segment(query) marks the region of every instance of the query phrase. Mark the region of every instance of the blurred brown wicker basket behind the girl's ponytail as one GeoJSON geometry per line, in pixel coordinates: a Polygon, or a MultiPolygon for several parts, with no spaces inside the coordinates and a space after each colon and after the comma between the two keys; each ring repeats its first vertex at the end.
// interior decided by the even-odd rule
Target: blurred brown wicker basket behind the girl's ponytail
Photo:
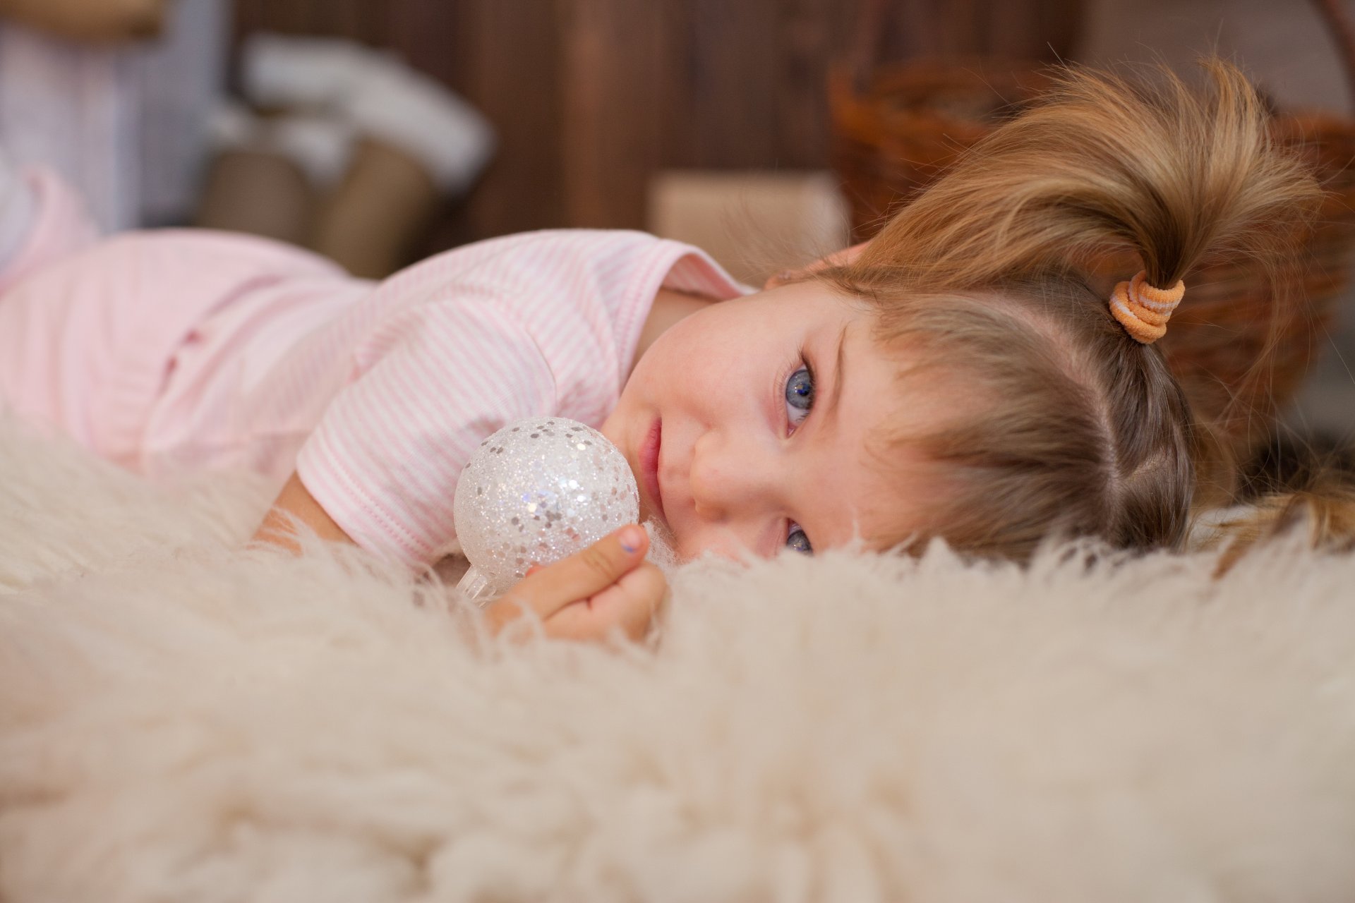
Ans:
{"type": "MultiPolygon", "coordinates": [[[[843,69],[831,83],[833,165],[856,241],[1019,112],[1049,76],[1035,64],[919,61],[875,66],[860,81],[843,69]]],[[[1274,130],[1331,191],[1302,259],[1285,267],[1282,292],[1270,291],[1255,263],[1206,261],[1187,276],[1190,290],[1161,343],[1196,414],[1221,426],[1238,455],[1270,435],[1325,344],[1355,245],[1355,122],[1278,115],[1274,130]],[[1285,309],[1276,294],[1290,299],[1285,309]]]]}

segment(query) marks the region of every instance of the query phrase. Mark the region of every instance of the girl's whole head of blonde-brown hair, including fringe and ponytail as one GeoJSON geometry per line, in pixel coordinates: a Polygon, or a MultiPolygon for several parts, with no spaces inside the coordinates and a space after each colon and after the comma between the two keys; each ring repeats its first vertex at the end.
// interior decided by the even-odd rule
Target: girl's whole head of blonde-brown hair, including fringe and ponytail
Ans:
{"type": "Polygon", "coordinates": [[[978,399],[893,437],[947,487],[924,535],[1012,558],[1051,532],[1176,547],[1196,467],[1214,482],[1226,471],[1161,352],[1111,317],[1103,279],[1107,261],[1127,264],[1117,279],[1184,278],[1188,303],[1206,255],[1274,272],[1316,211],[1321,191],[1272,144],[1256,91],[1226,62],[1203,66],[1203,92],[1167,72],[1066,70],[855,260],[816,273],[871,305],[878,340],[911,361],[905,382],[944,374],[978,399]]]}

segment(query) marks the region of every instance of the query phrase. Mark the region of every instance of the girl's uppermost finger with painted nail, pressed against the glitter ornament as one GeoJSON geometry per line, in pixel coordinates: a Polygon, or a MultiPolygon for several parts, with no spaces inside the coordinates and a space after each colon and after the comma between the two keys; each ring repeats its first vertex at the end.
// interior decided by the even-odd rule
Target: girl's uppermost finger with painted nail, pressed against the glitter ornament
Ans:
{"type": "Polygon", "coordinates": [[[500,627],[530,611],[542,621],[570,602],[588,600],[612,586],[645,560],[649,535],[629,524],[554,565],[533,571],[507,596],[485,609],[491,627],[500,627]]]}

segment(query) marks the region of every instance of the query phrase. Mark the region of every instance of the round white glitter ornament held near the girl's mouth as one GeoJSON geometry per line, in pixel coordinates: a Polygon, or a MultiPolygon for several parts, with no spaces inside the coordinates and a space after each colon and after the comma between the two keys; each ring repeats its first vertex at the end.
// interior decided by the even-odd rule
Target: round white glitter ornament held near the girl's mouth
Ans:
{"type": "Polygon", "coordinates": [[[470,562],[458,588],[484,604],[527,575],[640,519],[625,455],[565,417],[508,424],[470,458],[453,502],[470,562]]]}

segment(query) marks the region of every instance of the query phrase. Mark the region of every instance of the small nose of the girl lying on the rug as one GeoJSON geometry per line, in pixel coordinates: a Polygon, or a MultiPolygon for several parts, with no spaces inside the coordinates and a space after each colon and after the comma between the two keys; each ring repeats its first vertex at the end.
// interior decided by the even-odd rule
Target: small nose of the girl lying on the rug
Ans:
{"type": "Polygon", "coordinates": [[[775,449],[747,432],[710,431],[692,448],[690,489],[696,514],[709,523],[756,520],[779,487],[775,449]]]}

